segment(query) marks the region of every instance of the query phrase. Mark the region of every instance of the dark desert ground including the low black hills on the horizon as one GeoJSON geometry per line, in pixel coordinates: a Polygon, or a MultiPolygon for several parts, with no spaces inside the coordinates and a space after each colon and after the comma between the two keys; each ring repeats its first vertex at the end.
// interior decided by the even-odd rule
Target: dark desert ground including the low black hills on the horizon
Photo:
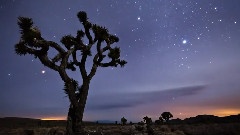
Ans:
{"type": "MultiPolygon", "coordinates": [[[[240,135],[240,115],[218,119],[204,115],[151,125],[154,135],[240,135]]],[[[0,135],[64,135],[66,121],[0,118],[0,135]]],[[[85,123],[88,135],[148,135],[146,125],[85,123]]]]}

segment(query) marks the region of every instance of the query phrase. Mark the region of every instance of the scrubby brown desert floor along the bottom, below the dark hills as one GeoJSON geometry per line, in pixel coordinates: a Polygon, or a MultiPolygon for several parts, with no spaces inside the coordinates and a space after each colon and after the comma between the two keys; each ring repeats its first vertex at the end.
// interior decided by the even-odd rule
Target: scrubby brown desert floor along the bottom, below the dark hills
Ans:
{"type": "MultiPolygon", "coordinates": [[[[152,125],[154,135],[240,135],[240,123],[152,125]]],[[[88,135],[148,135],[139,125],[85,126],[88,135]]],[[[0,135],[64,135],[65,127],[1,128],[0,135]]]]}

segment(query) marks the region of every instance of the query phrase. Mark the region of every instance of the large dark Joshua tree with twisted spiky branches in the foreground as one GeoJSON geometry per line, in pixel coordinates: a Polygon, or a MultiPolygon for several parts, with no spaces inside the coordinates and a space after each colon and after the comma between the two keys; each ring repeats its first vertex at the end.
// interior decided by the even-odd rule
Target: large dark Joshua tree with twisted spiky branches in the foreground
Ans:
{"type": "Polygon", "coordinates": [[[59,73],[64,82],[65,93],[70,101],[68,113],[70,128],[67,128],[67,134],[75,135],[83,132],[82,119],[89,85],[97,68],[117,67],[118,65],[123,67],[127,63],[120,60],[120,48],[112,46],[113,43],[119,41],[117,36],[109,34],[105,27],[90,23],[87,14],[83,11],[79,12],[77,17],[84,30],[78,30],[75,37],[72,35],[63,36],[61,39],[63,45],[45,40],[41,36],[40,30],[33,26],[31,18],[19,17],[18,25],[21,38],[19,43],[15,45],[16,54],[33,55],[44,66],[59,73]],[[84,37],[86,37],[87,43],[84,43],[84,37]],[[92,51],[94,48],[96,50],[92,51]],[[51,57],[50,50],[55,50],[57,53],[51,57]],[[92,66],[87,70],[86,61],[89,56],[93,56],[90,57],[92,58],[92,66]],[[67,70],[81,73],[81,85],[69,76],[67,70]]]}

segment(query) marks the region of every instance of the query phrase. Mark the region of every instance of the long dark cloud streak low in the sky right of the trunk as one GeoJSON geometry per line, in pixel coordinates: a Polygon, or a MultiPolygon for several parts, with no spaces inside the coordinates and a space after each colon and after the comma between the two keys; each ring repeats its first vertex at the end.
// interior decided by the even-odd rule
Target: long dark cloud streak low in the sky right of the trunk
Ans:
{"type": "MultiPolygon", "coordinates": [[[[136,93],[121,93],[118,95],[105,95],[101,99],[95,99],[94,102],[90,102],[89,109],[93,110],[108,110],[117,108],[134,107],[141,104],[147,104],[152,102],[166,102],[169,99],[196,95],[203,91],[206,85],[196,85],[179,87],[173,89],[166,89],[161,91],[151,92],[136,92],[136,93]]],[[[102,96],[100,96],[102,97],[102,96]]]]}

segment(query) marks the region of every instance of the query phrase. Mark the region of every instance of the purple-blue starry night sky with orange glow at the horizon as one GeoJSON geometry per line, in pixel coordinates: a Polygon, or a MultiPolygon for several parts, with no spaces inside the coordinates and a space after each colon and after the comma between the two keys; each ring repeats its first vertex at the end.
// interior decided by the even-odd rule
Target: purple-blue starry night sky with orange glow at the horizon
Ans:
{"type": "Polygon", "coordinates": [[[239,114],[239,7],[239,0],[1,0],[0,117],[66,118],[69,101],[58,73],[14,52],[17,17],[32,18],[45,39],[60,44],[82,29],[79,11],[120,38],[114,45],[128,61],[98,68],[84,120],[239,114]]]}

